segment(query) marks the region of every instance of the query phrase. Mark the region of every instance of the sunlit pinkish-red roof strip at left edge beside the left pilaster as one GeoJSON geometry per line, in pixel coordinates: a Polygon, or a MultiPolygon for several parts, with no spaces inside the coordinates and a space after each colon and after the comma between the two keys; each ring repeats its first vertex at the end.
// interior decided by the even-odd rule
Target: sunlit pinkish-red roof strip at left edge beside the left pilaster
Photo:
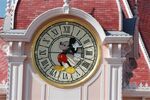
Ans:
{"type": "Polygon", "coordinates": [[[6,54],[2,51],[2,46],[5,44],[5,41],[0,39],[0,83],[2,81],[7,81],[8,74],[8,63],[6,54]]]}

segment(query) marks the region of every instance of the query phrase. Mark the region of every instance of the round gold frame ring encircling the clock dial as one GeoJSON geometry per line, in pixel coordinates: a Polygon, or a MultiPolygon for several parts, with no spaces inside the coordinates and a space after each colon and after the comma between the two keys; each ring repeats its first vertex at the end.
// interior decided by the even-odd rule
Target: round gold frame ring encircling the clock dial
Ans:
{"type": "Polygon", "coordinates": [[[102,49],[101,49],[101,40],[100,40],[100,37],[98,35],[98,32],[95,30],[95,28],[89,22],[87,22],[86,20],[79,18],[77,16],[69,15],[69,14],[63,14],[63,15],[58,15],[58,16],[55,16],[53,18],[50,18],[49,20],[43,22],[43,24],[41,24],[37,28],[37,30],[35,31],[35,33],[33,35],[31,42],[32,42],[31,59],[32,59],[32,68],[33,68],[34,72],[37,73],[40,76],[40,78],[42,78],[45,82],[47,82],[48,84],[53,85],[55,87],[67,89],[67,88],[75,88],[75,87],[81,86],[83,83],[85,83],[89,79],[91,79],[92,76],[94,74],[96,74],[96,72],[98,71],[98,69],[100,67],[101,60],[102,60],[102,49]],[[94,37],[94,39],[96,41],[98,56],[97,56],[97,60],[96,60],[94,67],[87,76],[85,76],[83,79],[81,79],[75,83],[60,84],[60,83],[56,83],[54,81],[48,80],[37,68],[35,58],[34,58],[34,49],[35,49],[36,41],[37,41],[38,37],[40,36],[40,34],[47,27],[49,27],[55,23],[61,22],[61,21],[71,21],[71,22],[76,22],[76,23],[81,24],[82,26],[84,26],[85,28],[87,28],[90,31],[91,35],[94,37]]]}

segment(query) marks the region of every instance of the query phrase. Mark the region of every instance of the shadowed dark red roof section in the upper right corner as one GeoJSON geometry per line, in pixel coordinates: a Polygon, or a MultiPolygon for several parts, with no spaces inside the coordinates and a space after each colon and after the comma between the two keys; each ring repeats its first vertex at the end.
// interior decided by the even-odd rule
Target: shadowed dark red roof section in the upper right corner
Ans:
{"type": "Polygon", "coordinates": [[[138,0],[139,31],[150,55],[150,0],[138,0]]]}

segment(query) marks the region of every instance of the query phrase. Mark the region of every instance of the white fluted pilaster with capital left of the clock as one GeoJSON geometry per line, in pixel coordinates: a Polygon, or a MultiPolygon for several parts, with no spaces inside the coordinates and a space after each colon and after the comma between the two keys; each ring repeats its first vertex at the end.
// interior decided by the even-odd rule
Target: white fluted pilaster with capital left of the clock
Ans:
{"type": "Polygon", "coordinates": [[[8,56],[9,89],[8,100],[22,100],[23,64],[26,58],[23,55],[22,42],[10,42],[8,56]]]}

